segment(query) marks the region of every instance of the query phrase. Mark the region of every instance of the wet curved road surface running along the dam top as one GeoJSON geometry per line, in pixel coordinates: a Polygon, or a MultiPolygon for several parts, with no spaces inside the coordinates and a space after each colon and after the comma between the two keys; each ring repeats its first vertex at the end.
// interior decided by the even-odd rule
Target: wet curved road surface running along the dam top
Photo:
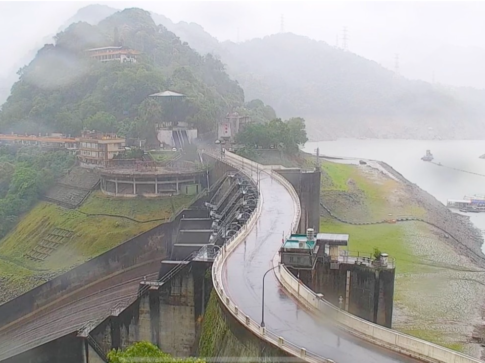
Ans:
{"type": "MultiPolygon", "coordinates": [[[[241,165],[227,153],[226,157],[241,165]]],[[[271,268],[271,261],[281,247],[283,232],[288,232],[295,216],[289,192],[265,172],[260,175],[261,216],[244,243],[227,258],[222,272],[226,293],[241,311],[256,321],[261,320],[262,277],[271,268]]],[[[257,178],[256,173],[253,178],[257,178]]],[[[273,273],[265,278],[264,298],[266,329],[309,352],[336,363],[416,362],[325,325],[286,295],[273,273]]]]}

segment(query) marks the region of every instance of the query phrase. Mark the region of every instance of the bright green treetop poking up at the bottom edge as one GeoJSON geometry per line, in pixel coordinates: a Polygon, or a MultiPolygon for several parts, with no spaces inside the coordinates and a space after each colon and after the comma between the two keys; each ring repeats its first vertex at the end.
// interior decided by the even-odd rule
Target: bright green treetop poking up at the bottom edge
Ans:
{"type": "Polygon", "coordinates": [[[110,363],[135,363],[142,361],[140,360],[142,358],[150,358],[149,361],[164,363],[205,363],[203,359],[198,358],[174,358],[148,341],[136,342],[124,350],[113,349],[108,353],[110,363]]]}

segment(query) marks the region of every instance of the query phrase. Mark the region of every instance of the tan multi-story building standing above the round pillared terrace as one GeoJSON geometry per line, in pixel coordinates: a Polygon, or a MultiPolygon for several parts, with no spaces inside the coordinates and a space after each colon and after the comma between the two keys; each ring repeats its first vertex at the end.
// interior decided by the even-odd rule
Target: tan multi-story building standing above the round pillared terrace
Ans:
{"type": "Polygon", "coordinates": [[[76,138],[79,145],[77,155],[84,166],[106,165],[120,152],[125,151],[126,141],[115,134],[84,132],[76,138]]]}

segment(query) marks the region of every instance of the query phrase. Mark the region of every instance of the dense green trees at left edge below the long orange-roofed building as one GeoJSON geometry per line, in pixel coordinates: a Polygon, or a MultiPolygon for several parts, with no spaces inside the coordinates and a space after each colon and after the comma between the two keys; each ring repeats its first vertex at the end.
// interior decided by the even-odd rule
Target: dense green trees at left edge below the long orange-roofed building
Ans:
{"type": "Polygon", "coordinates": [[[66,151],[0,147],[0,238],[73,162],[66,151]]]}

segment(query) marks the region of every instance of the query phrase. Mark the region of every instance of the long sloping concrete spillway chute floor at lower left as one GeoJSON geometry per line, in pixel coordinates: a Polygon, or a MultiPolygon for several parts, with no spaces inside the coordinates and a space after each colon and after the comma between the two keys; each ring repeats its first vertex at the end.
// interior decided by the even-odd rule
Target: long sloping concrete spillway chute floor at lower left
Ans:
{"type": "Polygon", "coordinates": [[[32,316],[0,327],[0,361],[76,332],[89,320],[107,316],[117,302],[138,291],[143,276],[157,277],[160,258],[57,300],[32,316]]]}

